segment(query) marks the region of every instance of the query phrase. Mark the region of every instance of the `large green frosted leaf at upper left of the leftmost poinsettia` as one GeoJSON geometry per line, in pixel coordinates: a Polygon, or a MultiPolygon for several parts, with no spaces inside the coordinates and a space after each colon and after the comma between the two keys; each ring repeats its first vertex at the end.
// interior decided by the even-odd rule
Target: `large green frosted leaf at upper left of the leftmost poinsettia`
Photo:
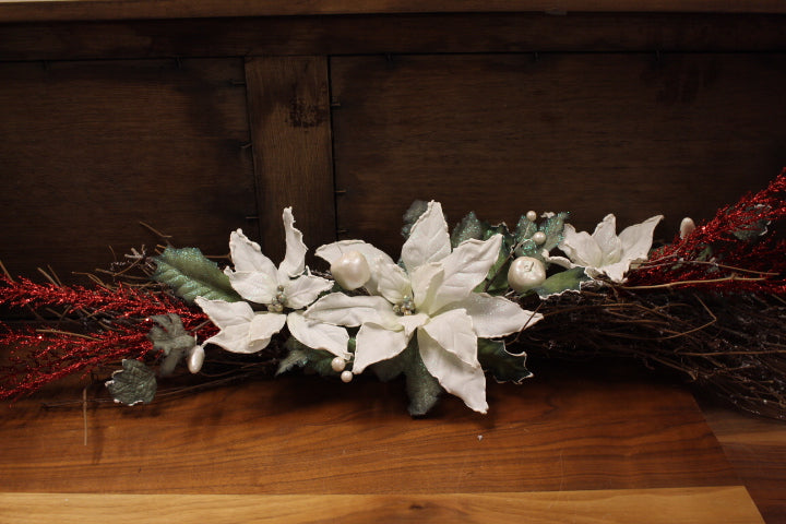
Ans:
{"type": "Polygon", "coordinates": [[[192,303],[196,297],[227,302],[242,300],[218,264],[207,260],[196,248],[168,247],[154,260],[157,269],[153,279],[169,286],[187,302],[192,303]]]}

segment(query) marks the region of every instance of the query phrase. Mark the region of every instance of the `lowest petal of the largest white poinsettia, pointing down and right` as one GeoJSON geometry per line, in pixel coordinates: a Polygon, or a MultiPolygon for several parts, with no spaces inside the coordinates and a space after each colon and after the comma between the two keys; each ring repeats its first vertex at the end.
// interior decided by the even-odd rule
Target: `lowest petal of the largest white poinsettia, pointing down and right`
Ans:
{"type": "Polygon", "coordinates": [[[449,393],[464,401],[467,407],[486,413],[486,374],[483,368],[473,367],[462,361],[431,338],[424,330],[418,330],[418,347],[420,358],[429,373],[449,393]]]}

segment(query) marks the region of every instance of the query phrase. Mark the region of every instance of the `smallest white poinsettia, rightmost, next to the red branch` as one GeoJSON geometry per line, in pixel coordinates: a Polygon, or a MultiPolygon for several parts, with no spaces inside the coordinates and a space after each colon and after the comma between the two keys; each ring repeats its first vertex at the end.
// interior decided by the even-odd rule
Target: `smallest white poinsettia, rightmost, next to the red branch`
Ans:
{"type": "Polygon", "coordinates": [[[619,236],[617,219],[612,214],[606,215],[592,235],[576,233],[573,226],[565,224],[559,248],[568,259],[549,257],[548,261],[564,267],[584,267],[585,273],[593,278],[605,275],[611,282],[622,283],[631,264],[647,260],[655,226],[662,219],[663,215],[650,217],[641,224],[624,228],[619,236]]]}

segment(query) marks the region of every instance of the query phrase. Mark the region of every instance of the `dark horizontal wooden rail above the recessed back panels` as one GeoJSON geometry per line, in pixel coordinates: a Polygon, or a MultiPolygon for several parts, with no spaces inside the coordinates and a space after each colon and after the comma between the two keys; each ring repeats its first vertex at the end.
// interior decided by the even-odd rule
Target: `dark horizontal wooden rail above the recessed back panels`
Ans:
{"type": "Polygon", "coordinates": [[[0,60],[786,50],[786,15],[397,14],[0,25],[0,60]]]}

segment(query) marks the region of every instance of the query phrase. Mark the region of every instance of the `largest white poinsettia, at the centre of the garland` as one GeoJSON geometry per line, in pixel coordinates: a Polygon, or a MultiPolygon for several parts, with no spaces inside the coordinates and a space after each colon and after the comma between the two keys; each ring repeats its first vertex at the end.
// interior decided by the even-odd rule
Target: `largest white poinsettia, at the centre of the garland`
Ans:
{"type": "Polygon", "coordinates": [[[413,336],[426,368],[449,393],[486,413],[486,377],[477,357],[478,337],[505,336],[543,317],[503,297],[474,293],[499,255],[502,237],[467,240],[451,250],[448,224],[438,202],[412,228],[402,249],[404,267],[379,249],[357,240],[317,250],[327,262],[362,253],[371,267],[370,296],[326,295],[306,318],[350,327],[356,338],[353,373],[395,357],[413,336]]]}

